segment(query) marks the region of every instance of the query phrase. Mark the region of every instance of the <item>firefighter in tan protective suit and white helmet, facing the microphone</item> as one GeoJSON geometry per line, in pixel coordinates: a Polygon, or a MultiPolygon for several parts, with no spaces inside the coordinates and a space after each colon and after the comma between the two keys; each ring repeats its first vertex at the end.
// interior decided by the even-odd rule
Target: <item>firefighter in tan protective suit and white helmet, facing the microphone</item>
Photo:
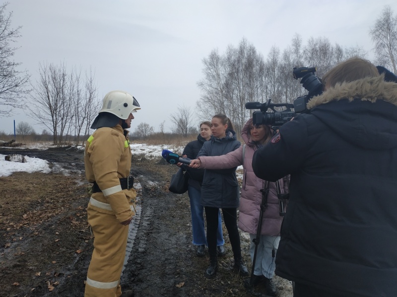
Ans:
{"type": "Polygon", "coordinates": [[[129,176],[131,148],[125,129],[131,127],[132,112],[137,109],[138,102],[126,92],[106,94],[91,126],[97,130],[85,145],[85,174],[93,183],[87,215],[94,234],[85,297],[133,296],[131,290],[122,293],[120,275],[136,197],[129,176]]]}

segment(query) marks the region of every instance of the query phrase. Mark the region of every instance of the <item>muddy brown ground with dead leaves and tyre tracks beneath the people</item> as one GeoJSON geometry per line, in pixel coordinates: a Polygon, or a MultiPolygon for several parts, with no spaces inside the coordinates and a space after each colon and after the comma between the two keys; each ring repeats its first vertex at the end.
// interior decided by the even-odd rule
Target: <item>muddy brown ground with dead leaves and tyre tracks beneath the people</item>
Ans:
{"type": "MultiPolygon", "coordinates": [[[[93,249],[83,152],[0,148],[0,154],[10,153],[47,159],[53,173],[0,177],[0,297],[83,296],[93,249]]],[[[130,226],[123,289],[132,289],[136,297],[253,296],[243,285],[247,277],[233,269],[226,230],[227,253],[219,258],[218,273],[211,280],[204,277],[209,258],[197,257],[192,245],[189,198],[168,192],[176,170],[160,157],[133,157],[139,211],[130,226]]],[[[251,272],[249,245],[242,236],[251,272]]],[[[277,276],[273,280],[279,297],[292,297],[290,282],[277,276]]],[[[265,288],[255,292],[265,294],[265,288]]]]}

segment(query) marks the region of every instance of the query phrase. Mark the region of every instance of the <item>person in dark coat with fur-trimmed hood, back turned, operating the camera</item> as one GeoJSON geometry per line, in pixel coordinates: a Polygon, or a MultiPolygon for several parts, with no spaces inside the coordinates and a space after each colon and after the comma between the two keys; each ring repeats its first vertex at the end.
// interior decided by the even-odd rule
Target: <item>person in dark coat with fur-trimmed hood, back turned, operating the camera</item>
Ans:
{"type": "Polygon", "coordinates": [[[291,175],[275,273],[294,297],[397,294],[397,84],[348,59],[324,93],[254,154],[255,174],[291,175]]]}

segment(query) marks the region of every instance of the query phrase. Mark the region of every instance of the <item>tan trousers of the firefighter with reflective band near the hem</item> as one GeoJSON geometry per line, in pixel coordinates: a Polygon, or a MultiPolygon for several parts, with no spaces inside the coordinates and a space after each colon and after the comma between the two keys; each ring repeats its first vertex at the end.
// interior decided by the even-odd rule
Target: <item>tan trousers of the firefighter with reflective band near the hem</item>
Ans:
{"type": "Polygon", "coordinates": [[[115,215],[90,207],[87,214],[95,238],[84,297],[119,297],[129,226],[121,225],[115,215]]]}

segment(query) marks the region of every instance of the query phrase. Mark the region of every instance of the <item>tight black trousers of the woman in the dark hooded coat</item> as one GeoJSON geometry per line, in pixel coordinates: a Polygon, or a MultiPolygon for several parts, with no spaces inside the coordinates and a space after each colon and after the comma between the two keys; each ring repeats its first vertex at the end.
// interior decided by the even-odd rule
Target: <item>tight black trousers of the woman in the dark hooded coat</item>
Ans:
{"type": "MultiPolygon", "coordinates": [[[[216,232],[218,230],[218,210],[216,207],[204,206],[207,222],[207,244],[210,257],[216,257],[216,232]]],[[[237,228],[237,208],[222,208],[223,220],[229,235],[235,259],[241,257],[240,234],[237,228]]]]}

